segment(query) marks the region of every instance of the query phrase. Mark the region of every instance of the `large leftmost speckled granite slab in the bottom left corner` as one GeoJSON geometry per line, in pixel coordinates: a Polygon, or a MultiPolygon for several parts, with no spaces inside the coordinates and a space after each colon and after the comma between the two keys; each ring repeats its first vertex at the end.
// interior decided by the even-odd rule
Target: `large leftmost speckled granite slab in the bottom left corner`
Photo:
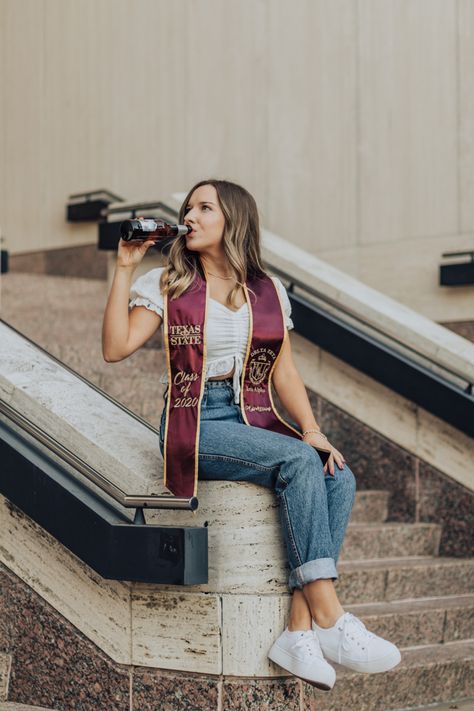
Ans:
{"type": "Polygon", "coordinates": [[[58,711],[128,711],[128,669],[113,664],[3,567],[0,583],[0,642],[12,653],[8,701],[58,711]]]}

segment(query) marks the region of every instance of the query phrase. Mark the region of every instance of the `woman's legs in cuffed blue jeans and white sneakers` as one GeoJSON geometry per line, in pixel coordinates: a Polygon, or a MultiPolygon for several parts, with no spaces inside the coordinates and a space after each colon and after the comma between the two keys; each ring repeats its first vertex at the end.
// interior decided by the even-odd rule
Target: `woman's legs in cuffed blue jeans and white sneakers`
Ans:
{"type": "MultiPolygon", "coordinates": [[[[164,417],[162,450],[163,424],[164,417]]],[[[354,475],[347,466],[342,470],[336,467],[332,477],[325,474],[319,455],[305,442],[243,424],[240,408],[233,401],[233,389],[223,384],[211,385],[204,391],[199,476],[267,486],[275,490],[280,500],[283,538],[291,568],[289,587],[295,591],[290,625],[294,622],[295,627],[301,629],[284,630],[268,653],[270,659],[325,689],[334,684],[335,672],[322,656],[323,643],[325,653],[327,650],[327,654],[332,655],[329,658],[334,659],[336,655],[338,661],[347,666],[352,664],[351,668],[381,671],[398,663],[396,647],[374,635],[367,638],[368,642],[365,638],[364,641],[373,648],[376,639],[375,666],[372,659],[357,659],[359,647],[347,653],[344,660],[340,659],[340,650],[345,644],[341,635],[344,636],[346,627],[352,626],[351,639],[357,635],[354,626],[361,634],[362,623],[350,613],[344,613],[342,632],[336,629],[337,625],[327,630],[322,626],[317,628],[318,637],[327,635],[321,646],[308,628],[311,617],[324,625],[324,620],[332,621],[339,611],[333,581],[338,577],[336,561],[355,495],[354,475]]],[[[365,644],[361,649],[365,654],[365,644]]],[[[372,652],[371,655],[374,656],[372,652]]]]}

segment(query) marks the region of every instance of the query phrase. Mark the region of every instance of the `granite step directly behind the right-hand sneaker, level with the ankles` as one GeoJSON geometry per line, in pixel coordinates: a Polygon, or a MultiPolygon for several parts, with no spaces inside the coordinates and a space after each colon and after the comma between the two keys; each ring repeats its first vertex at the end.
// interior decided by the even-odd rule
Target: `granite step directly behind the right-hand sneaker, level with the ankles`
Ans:
{"type": "Polygon", "coordinates": [[[398,647],[474,639],[474,594],[348,605],[367,629],[398,647]]]}

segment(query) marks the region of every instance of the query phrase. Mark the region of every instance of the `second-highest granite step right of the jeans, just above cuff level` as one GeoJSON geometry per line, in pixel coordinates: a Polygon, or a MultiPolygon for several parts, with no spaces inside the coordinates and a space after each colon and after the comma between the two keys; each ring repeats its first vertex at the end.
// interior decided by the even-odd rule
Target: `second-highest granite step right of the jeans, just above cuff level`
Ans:
{"type": "Polygon", "coordinates": [[[340,560],[437,555],[441,531],[436,523],[349,523],[340,560]]]}

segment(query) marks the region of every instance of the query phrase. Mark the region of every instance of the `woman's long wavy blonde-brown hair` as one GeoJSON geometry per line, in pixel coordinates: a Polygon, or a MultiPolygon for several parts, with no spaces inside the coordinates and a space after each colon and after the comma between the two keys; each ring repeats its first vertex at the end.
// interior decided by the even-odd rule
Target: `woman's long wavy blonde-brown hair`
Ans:
{"type": "MultiPolygon", "coordinates": [[[[252,195],[241,185],[228,180],[201,180],[186,195],[179,210],[178,222],[184,224],[185,209],[193,192],[201,185],[213,185],[225,224],[222,236],[224,252],[237,283],[227,297],[227,304],[236,307],[235,298],[247,279],[263,276],[260,252],[260,225],[257,205],[252,195]]],[[[205,278],[199,253],[186,247],[186,237],[178,237],[171,245],[168,262],[161,274],[163,294],[177,299],[193,283],[196,273],[205,278]]]]}

